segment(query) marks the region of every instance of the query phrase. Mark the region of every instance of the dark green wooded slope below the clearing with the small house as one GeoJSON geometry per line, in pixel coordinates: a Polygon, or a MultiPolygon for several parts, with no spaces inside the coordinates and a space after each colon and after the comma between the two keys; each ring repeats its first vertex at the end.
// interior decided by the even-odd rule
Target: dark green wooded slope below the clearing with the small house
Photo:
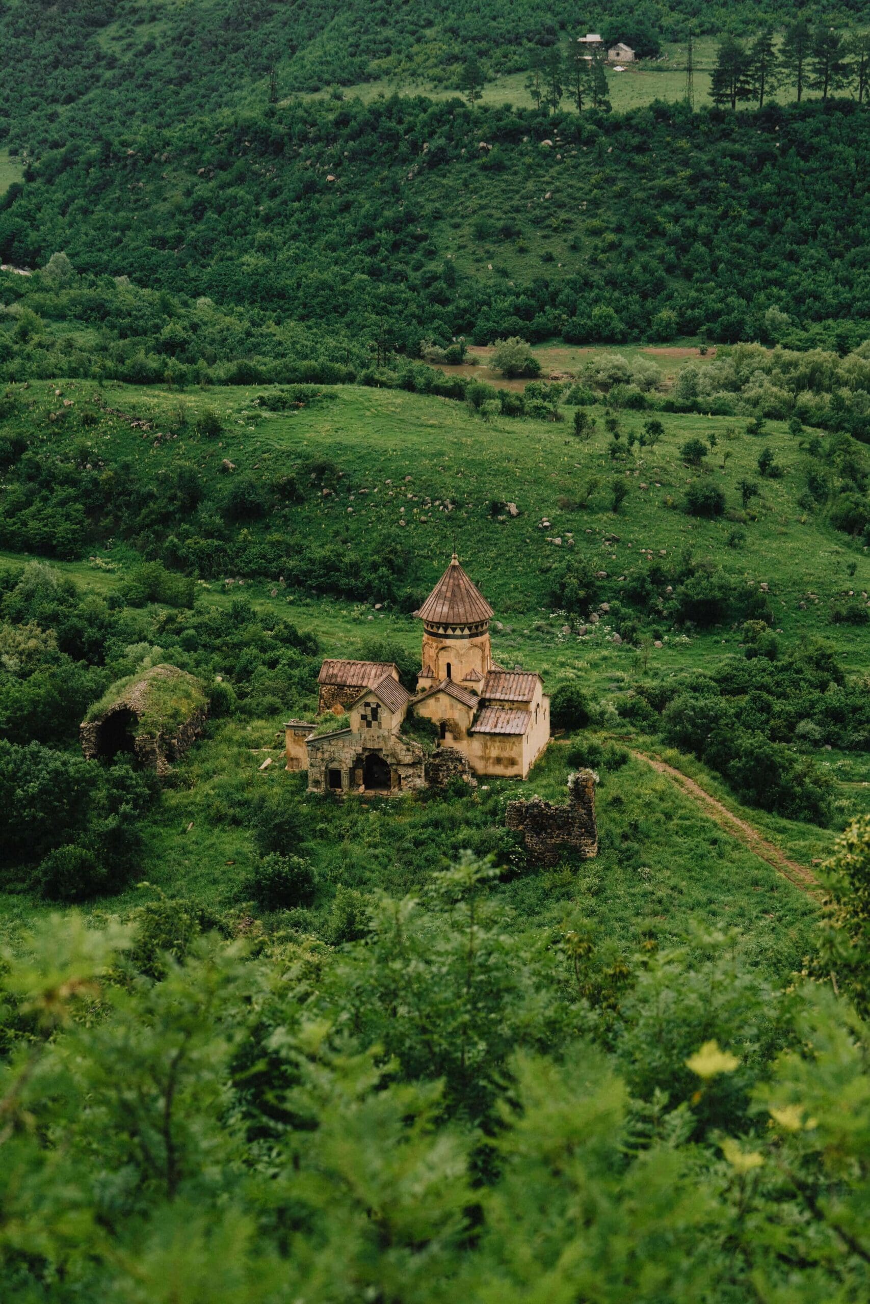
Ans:
{"type": "Polygon", "coordinates": [[[844,100],[603,119],[292,106],[47,151],[0,201],[0,250],[34,266],[63,249],[80,271],[411,355],[458,334],[848,347],[870,313],[869,124],[844,100]]]}

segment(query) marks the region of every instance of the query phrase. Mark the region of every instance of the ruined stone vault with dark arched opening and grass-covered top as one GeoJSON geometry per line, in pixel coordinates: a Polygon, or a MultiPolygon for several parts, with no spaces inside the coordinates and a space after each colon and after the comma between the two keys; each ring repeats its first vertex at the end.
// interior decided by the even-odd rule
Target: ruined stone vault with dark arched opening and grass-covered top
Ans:
{"type": "Polygon", "coordinates": [[[176,665],[154,665],[112,685],[80,729],[89,760],[125,751],[164,775],[202,733],[209,713],[198,679],[176,665]]]}

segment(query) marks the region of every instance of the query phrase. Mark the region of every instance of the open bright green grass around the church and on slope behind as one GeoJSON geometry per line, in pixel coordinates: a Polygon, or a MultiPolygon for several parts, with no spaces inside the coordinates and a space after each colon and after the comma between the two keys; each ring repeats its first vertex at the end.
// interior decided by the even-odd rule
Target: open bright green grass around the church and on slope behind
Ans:
{"type": "MultiPolygon", "coordinates": [[[[78,404],[93,386],[31,383],[35,407],[43,415],[57,402],[55,389],[78,404]]],[[[597,413],[597,425],[588,442],[582,442],[570,421],[484,421],[463,404],[395,390],[338,386],[323,394],[323,402],[271,413],[257,404],[253,387],[179,394],[107,385],[103,402],[153,421],[158,429],[184,404],[189,416],[213,407],[223,430],[211,438],[190,433],[164,442],[112,419],[87,432],[89,455],[125,456],[134,464],[147,463],[155,475],[175,459],[184,460],[214,484],[215,493],[232,476],[271,480],[312,458],[327,458],[342,472],[338,490],[307,497],[291,509],[301,515],[307,533],[346,541],[363,556],[367,539],[400,540],[419,567],[421,592],[441,574],[455,542],[496,609],[496,659],[506,666],[541,672],[550,689],[579,679],[596,699],[616,699],[646,675],[703,669],[715,677],[717,661],[738,652],[741,632],[728,626],[686,635],[663,627],[653,631],[661,647],[633,648],[614,645],[614,631],[603,618],[591,632],[578,636],[550,599],[554,569],[571,549],[607,571],[614,595],[620,576],[642,550],[673,556],[691,549],[697,558],[716,558],[745,584],[770,585],[784,647],[809,635],[831,635],[830,601],[848,589],[870,587],[866,550],[837,535],[820,515],[796,506],[803,454],[784,424],[768,422],[767,436],[753,437],[745,433],[745,422],[734,419],[663,413],[661,441],[647,449],[635,445],[626,460],[613,463],[600,408],[591,409],[597,413]],[[730,544],[732,520],[697,519],[681,510],[691,476],[680,447],[693,436],[716,436],[706,475],[724,488],[732,511],[740,506],[737,482],[758,479],[762,447],[770,446],[783,467],[781,479],[759,481],[762,494],[740,527],[742,537],[730,544]],[[224,460],[235,469],[227,472],[224,460]],[[614,477],[629,484],[617,514],[612,510],[614,477]],[[597,488],[588,493],[588,506],[580,507],[590,480],[597,481],[597,488]],[[497,506],[501,502],[514,502],[519,515],[505,514],[497,506]],[[847,569],[850,563],[854,574],[847,569]]],[[[639,432],[643,420],[644,413],[620,413],[626,433],[639,432]]],[[[35,429],[42,432],[46,456],[64,455],[70,436],[39,416],[35,429]]],[[[7,563],[21,559],[5,554],[7,563]]],[[[82,588],[110,597],[136,561],[128,545],[110,542],[91,559],[52,565],[82,588]]],[[[376,556],[372,563],[377,563],[376,556]]],[[[227,575],[198,584],[197,601],[217,609],[228,610],[236,596],[250,599],[266,627],[283,615],[314,634],[323,656],[359,655],[363,640],[373,634],[398,640],[410,651],[419,647],[420,627],[410,615],[389,606],[376,610],[363,602],[288,592],[278,574],[273,580],[243,582],[227,575]]],[[[155,608],[158,630],[159,619],[155,608]]],[[[850,670],[870,665],[863,630],[837,626],[836,643],[850,670]]],[[[313,711],[314,704],[312,681],[305,709],[313,711]]],[[[124,910],[158,892],[190,897],[203,908],[239,906],[256,852],[244,820],[233,822],[235,806],[258,792],[299,795],[304,786],[299,775],[283,769],[280,730],[288,713],[213,721],[207,738],[176,767],[160,806],[146,822],[142,879],[149,887],[132,885],[91,909],[98,914],[124,910]],[[261,769],[269,758],[273,764],[261,769]]],[[[622,721],[610,734],[623,747],[656,750],[653,741],[622,721]]],[[[532,772],[528,789],[561,799],[571,768],[569,752],[570,739],[554,742],[532,772]]],[[[866,758],[836,751],[820,755],[837,782],[836,823],[870,808],[866,758]]],[[[809,865],[830,850],[833,829],[741,810],[727,786],[702,765],[676,754],[668,759],[699,777],[729,808],[800,862],[809,865]]],[[[485,846],[515,790],[510,781],[484,784],[458,815],[450,815],[440,802],[410,798],[313,802],[313,858],[323,882],[333,885],[408,891],[463,845],[485,846]]],[[[625,947],[640,945],[651,932],[678,940],[691,919],[699,919],[715,928],[734,927],[753,962],[771,971],[800,965],[814,901],[720,831],[668,778],[630,759],[604,776],[599,815],[601,855],[579,876],[556,871],[500,888],[522,918],[547,925],[570,906],[625,947]]],[[[329,895],[322,902],[291,911],[290,922],[316,931],[327,908],[329,895]]],[[[7,896],[1,909],[13,923],[47,908],[7,896]]]]}

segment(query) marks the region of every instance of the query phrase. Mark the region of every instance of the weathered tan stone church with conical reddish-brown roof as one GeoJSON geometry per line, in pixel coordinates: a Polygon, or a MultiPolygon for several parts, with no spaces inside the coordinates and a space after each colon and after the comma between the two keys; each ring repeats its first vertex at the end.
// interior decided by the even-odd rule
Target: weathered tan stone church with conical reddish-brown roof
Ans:
{"type": "Polygon", "coordinates": [[[309,792],[394,793],[451,773],[526,778],[545,750],[549,698],[541,677],[493,661],[493,609],[455,553],[415,615],[423,621],[416,695],[391,662],[323,661],[318,715],[347,713],[350,725],[287,724],[287,768],[308,771],[309,792]],[[403,729],[410,712],[436,726],[434,754],[403,729]]]}

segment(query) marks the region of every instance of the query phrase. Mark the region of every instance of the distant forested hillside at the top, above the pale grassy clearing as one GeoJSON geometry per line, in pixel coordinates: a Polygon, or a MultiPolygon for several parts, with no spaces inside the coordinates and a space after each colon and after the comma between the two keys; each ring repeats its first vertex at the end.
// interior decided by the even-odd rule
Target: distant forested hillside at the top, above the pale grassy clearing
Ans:
{"type": "MultiPolygon", "coordinates": [[[[458,87],[470,57],[487,76],[524,70],[590,29],[644,56],[689,30],[743,35],[793,17],[788,0],[625,0],[586,9],[553,0],[4,0],[0,145],[89,140],[130,120],[180,119],[278,95],[393,77],[458,87]]],[[[813,23],[860,27],[863,0],[801,7],[813,23]]]]}

